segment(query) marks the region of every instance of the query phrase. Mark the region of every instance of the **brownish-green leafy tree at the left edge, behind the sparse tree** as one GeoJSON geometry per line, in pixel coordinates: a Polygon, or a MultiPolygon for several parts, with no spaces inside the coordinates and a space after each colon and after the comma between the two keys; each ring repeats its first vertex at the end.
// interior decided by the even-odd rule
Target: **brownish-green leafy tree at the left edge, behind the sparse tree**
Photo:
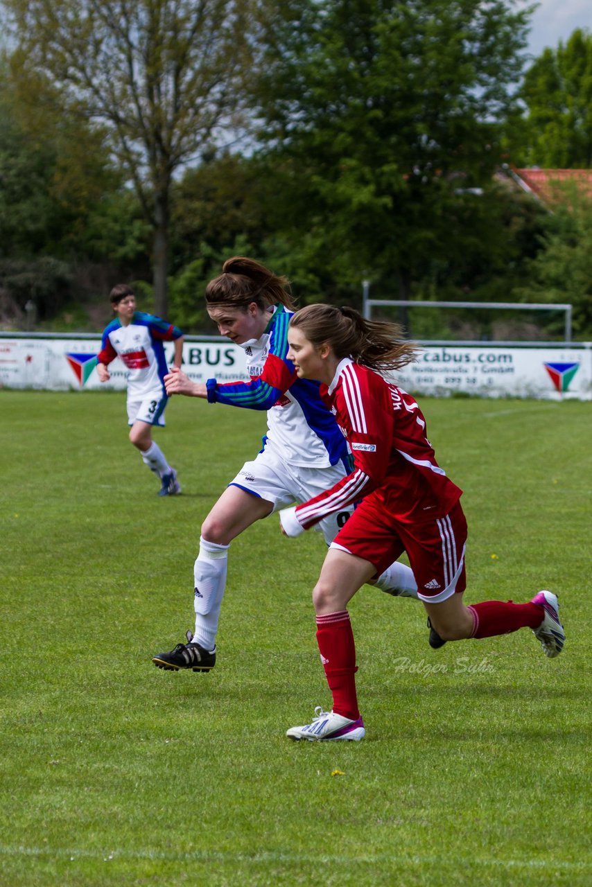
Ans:
{"type": "Polygon", "coordinates": [[[43,78],[35,102],[21,87],[0,56],[0,288],[9,323],[29,300],[48,321],[71,290],[97,292],[120,269],[141,268],[148,242],[105,133],[56,114],[43,78]]]}

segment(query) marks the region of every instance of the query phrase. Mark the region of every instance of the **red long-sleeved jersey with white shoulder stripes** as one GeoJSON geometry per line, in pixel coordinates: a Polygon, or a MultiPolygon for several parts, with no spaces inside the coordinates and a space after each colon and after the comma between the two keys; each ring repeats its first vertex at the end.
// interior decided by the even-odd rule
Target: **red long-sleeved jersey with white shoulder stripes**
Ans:
{"type": "Polygon", "coordinates": [[[330,490],[296,506],[308,530],[327,514],[366,498],[393,520],[444,517],[462,490],[438,466],[414,397],[345,357],[320,395],[347,438],[354,470],[330,490]]]}

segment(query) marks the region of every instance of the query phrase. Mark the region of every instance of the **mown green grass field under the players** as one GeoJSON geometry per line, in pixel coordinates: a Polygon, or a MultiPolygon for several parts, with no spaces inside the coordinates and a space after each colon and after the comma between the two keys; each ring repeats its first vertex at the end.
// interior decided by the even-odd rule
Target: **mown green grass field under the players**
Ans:
{"type": "Polygon", "coordinates": [[[287,727],[330,705],[319,534],[248,530],[216,669],[150,662],[193,627],[201,520],[264,417],[171,401],[156,436],[184,492],[159,498],[122,394],[0,391],[3,887],[592,883],[592,407],[422,407],[465,491],[465,599],[555,590],[564,654],[527,630],[433,651],[415,601],[365,586],[350,609],[367,738],[298,743],[287,727]]]}

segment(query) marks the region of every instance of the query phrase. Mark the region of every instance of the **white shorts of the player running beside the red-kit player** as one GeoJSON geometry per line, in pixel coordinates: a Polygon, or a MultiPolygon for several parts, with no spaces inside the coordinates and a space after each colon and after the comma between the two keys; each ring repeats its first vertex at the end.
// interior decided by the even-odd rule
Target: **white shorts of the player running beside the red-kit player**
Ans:
{"type": "MultiPolygon", "coordinates": [[[[245,462],[228,485],[266,499],[272,503],[273,511],[279,511],[295,502],[308,502],[319,493],[330,490],[348,473],[341,462],[327,468],[290,465],[266,447],[252,462],[245,462]]],[[[327,545],[330,545],[352,512],[353,506],[347,506],[335,514],[328,514],[314,529],[322,533],[327,545]]]]}

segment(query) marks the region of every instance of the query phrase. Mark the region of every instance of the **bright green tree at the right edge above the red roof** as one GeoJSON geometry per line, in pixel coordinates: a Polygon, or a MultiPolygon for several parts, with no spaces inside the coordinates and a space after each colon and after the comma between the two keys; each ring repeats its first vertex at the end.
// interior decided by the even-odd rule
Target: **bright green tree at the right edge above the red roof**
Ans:
{"type": "Polygon", "coordinates": [[[526,114],[514,156],[550,169],[592,166],[592,35],[578,28],[557,49],[545,49],[520,90],[526,114]]]}

